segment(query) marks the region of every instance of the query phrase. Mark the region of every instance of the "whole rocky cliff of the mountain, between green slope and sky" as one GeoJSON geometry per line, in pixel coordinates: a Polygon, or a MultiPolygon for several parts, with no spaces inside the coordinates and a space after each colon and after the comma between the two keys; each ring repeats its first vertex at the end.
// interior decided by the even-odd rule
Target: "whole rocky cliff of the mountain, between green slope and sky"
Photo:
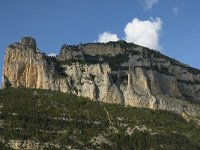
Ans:
{"type": "Polygon", "coordinates": [[[92,100],[199,115],[200,71],[123,41],[63,45],[57,57],[24,37],[6,49],[3,88],[57,90],[92,100]]]}

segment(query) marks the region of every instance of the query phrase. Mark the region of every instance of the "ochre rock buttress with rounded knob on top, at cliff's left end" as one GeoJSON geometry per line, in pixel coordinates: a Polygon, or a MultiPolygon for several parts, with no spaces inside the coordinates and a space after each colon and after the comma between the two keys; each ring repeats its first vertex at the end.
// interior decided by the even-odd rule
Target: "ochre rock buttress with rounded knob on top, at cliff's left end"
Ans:
{"type": "Polygon", "coordinates": [[[54,63],[36,49],[31,37],[22,38],[20,43],[6,49],[3,66],[2,87],[30,87],[50,90],[66,90],[64,79],[56,77],[54,63]],[[64,88],[64,89],[63,89],[64,88]]]}

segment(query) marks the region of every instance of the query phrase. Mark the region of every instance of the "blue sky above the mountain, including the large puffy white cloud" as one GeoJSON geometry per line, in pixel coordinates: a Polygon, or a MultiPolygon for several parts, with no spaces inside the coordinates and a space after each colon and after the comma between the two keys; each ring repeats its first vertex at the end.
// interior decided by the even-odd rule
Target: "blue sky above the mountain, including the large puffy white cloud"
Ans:
{"type": "Polygon", "coordinates": [[[132,34],[155,24],[153,37],[145,36],[150,46],[200,68],[199,15],[199,0],[0,0],[0,75],[5,48],[23,36],[33,36],[49,54],[65,43],[99,41],[104,32],[137,41],[144,30],[132,34]]]}

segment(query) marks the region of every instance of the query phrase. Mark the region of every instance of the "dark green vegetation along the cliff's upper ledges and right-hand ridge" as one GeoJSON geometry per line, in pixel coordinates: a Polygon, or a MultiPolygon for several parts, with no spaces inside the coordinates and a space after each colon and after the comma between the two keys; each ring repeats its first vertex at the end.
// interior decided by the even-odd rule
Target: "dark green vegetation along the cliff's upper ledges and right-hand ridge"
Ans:
{"type": "MultiPolygon", "coordinates": [[[[88,44],[94,44],[94,43],[88,43],[88,44]]],[[[86,46],[88,44],[81,44],[81,45],[86,46]]],[[[83,61],[82,59],[75,59],[75,60],[67,60],[67,61],[63,61],[63,62],[58,62],[55,57],[53,57],[53,58],[47,57],[47,62],[50,62],[50,60],[52,62],[54,62],[57,65],[57,68],[58,68],[57,72],[61,73],[61,75],[64,75],[62,67],[61,67],[62,64],[71,65],[72,63],[75,63],[75,62],[79,62],[80,64],[108,63],[113,71],[118,71],[118,70],[128,70],[128,66],[122,66],[122,64],[125,63],[125,62],[128,62],[129,55],[132,55],[132,56],[133,55],[142,55],[143,57],[148,57],[148,58],[151,58],[151,55],[153,55],[154,58],[163,58],[163,59],[169,60],[172,65],[180,66],[180,67],[188,70],[189,72],[191,72],[193,74],[200,74],[199,69],[185,65],[185,64],[177,61],[176,59],[172,59],[172,58],[160,53],[159,51],[151,50],[151,49],[146,48],[146,47],[141,47],[141,46],[136,45],[134,43],[127,43],[125,41],[117,41],[117,42],[95,43],[95,44],[99,44],[99,45],[103,44],[105,46],[112,45],[113,47],[120,45],[120,47],[125,51],[122,54],[118,54],[118,55],[113,56],[113,57],[112,56],[106,56],[106,55],[91,56],[91,55],[84,54],[85,61],[83,61]],[[142,51],[139,52],[138,48],[140,48],[142,51]]],[[[73,46],[64,45],[62,47],[62,49],[64,49],[65,47],[67,47],[67,49],[70,49],[70,50],[73,50],[73,51],[79,50],[78,46],[74,46],[74,45],[73,46]]],[[[157,68],[153,68],[153,69],[156,69],[158,71],[157,68]]],[[[165,70],[165,69],[162,69],[160,72],[165,73],[165,74],[169,74],[168,70],[165,70]]]]}

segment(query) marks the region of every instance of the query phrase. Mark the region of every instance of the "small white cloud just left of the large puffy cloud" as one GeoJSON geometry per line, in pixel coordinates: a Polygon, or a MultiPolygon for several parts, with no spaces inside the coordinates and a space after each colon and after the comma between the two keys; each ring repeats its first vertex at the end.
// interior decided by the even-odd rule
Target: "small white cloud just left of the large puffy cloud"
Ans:
{"type": "Polygon", "coordinates": [[[99,35],[98,42],[100,43],[106,43],[109,41],[118,41],[119,38],[117,37],[117,34],[112,34],[110,32],[104,32],[99,35]]]}

